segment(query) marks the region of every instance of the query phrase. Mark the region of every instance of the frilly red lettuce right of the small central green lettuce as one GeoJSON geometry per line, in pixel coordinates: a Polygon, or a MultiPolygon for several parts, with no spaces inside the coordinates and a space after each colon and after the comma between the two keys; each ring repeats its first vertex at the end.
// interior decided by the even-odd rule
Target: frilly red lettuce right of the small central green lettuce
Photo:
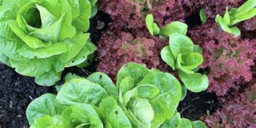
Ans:
{"type": "Polygon", "coordinates": [[[188,35],[203,48],[201,68],[207,69],[208,91],[223,96],[240,80],[248,82],[252,79],[250,68],[254,65],[256,40],[234,38],[213,22],[190,30],[188,35]]]}

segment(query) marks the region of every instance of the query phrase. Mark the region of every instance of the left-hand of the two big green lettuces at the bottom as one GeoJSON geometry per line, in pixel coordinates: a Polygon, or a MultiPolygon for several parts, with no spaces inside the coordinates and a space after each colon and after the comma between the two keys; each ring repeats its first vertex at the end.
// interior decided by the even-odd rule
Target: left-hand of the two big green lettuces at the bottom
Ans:
{"type": "Polygon", "coordinates": [[[46,93],[29,104],[26,116],[31,127],[131,127],[107,75],[70,75],[65,80],[57,96],[46,93]]]}

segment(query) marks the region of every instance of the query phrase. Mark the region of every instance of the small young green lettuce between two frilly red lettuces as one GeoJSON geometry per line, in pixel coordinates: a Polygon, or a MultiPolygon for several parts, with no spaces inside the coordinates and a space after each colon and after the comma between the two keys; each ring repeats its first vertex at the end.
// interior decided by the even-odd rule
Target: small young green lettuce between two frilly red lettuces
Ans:
{"type": "Polygon", "coordinates": [[[178,70],[178,75],[188,90],[200,92],[207,89],[207,76],[195,73],[203,63],[202,49],[181,33],[172,33],[169,38],[169,46],[161,50],[161,58],[173,70],[178,70]]]}

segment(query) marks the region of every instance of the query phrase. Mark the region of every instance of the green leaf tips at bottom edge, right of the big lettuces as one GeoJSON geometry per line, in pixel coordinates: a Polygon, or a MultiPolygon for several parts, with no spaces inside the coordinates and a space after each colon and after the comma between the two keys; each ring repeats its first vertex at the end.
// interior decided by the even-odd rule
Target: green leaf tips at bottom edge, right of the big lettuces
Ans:
{"type": "Polygon", "coordinates": [[[166,120],[160,125],[160,128],[175,127],[175,128],[206,128],[206,125],[200,120],[190,121],[186,118],[180,118],[180,113],[175,112],[171,119],[166,120]]]}

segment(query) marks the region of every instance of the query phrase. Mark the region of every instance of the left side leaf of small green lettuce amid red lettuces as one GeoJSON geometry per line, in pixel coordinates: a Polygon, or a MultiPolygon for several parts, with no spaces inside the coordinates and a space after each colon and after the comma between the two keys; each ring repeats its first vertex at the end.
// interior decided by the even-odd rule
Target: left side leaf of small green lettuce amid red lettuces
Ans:
{"type": "Polygon", "coordinates": [[[175,70],[175,59],[174,56],[172,55],[170,46],[165,46],[165,48],[161,50],[160,54],[164,62],[171,66],[172,70],[175,70]]]}

